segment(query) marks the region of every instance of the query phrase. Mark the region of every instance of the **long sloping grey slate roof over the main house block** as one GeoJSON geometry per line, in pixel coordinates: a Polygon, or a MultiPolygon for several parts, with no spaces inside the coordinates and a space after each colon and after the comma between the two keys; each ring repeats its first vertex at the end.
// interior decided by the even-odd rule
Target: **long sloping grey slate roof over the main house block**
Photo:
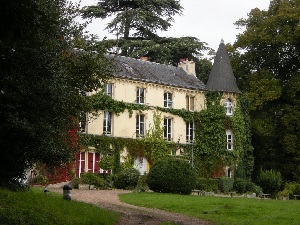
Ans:
{"type": "Polygon", "coordinates": [[[115,77],[157,83],[193,90],[206,90],[205,85],[182,68],[124,56],[107,55],[113,59],[117,72],[115,77]]]}

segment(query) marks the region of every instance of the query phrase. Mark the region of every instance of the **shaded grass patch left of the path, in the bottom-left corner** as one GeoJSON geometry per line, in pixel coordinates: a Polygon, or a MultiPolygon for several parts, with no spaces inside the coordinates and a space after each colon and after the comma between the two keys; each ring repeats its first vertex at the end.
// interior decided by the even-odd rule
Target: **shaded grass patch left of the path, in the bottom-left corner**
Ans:
{"type": "Polygon", "coordinates": [[[91,204],[68,201],[41,189],[11,192],[0,189],[0,224],[113,225],[119,214],[91,204]]]}

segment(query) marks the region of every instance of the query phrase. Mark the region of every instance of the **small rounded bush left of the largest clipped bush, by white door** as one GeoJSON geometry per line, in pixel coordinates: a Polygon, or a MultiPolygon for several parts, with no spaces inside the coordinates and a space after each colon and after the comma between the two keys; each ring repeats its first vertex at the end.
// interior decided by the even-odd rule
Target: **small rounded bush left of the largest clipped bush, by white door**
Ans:
{"type": "Polygon", "coordinates": [[[118,189],[134,189],[140,177],[140,172],[135,168],[127,168],[116,175],[114,185],[118,189]]]}

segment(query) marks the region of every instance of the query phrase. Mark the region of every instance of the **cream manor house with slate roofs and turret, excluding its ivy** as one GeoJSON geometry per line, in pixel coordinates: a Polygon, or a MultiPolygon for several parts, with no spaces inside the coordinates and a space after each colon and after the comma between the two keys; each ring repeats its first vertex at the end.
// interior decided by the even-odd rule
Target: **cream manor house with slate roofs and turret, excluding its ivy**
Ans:
{"type": "MultiPolygon", "coordinates": [[[[236,98],[239,89],[230,65],[224,42],[219,45],[207,85],[204,85],[195,73],[195,62],[183,59],[178,67],[150,62],[146,57],[133,59],[122,56],[113,57],[117,72],[105,84],[105,94],[114,100],[147,106],[201,111],[205,109],[205,92],[223,93],[220,104],[226,115],[234,116],[236,98]]],[[[88,93],[89,95],[93,93],[88,93]]],[[[106,135],[121,138],[144,138],[147,129],[153,125],[153,110],[133,112],[131,117],[125,111],[116,115],[109,110],[101,111],[96,119],[86,115],[86,121],[80,122],[81,133],[106,135]]],[[[163,137],[167,142],[191,144],[194,141],[194,123],[185,122],[181,117],[162,112],[163,137]]],[[[234,134],[226,130],[227,149],[234,151],[234,134]]],[[[126,156],[121,152],[120,160],[126,156]]],[[[82,149],[76,156],[76,175],[80,173],[110,173],[99,167],[101,153],[93,148],[82,149]]],[[[146,158],[136,158],[134,167],[141,174],[149,171],[146,158]]],[[[231,176],[230,173],[224,173],[231,176]]]]}

